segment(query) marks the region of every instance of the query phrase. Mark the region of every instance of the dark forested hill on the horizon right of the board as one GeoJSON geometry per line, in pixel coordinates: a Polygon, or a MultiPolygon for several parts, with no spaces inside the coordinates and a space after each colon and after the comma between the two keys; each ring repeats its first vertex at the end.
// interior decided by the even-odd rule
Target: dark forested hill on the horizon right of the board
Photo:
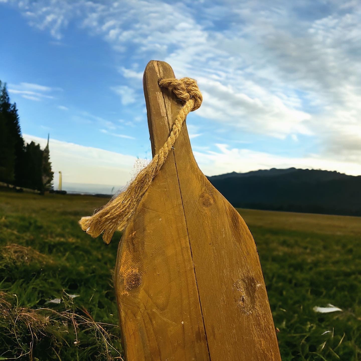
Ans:
{"type": "Polygon", "coordinates": [[[361,176],[272,168],[208,179],[235,207],[361,216],[361,176]]]}

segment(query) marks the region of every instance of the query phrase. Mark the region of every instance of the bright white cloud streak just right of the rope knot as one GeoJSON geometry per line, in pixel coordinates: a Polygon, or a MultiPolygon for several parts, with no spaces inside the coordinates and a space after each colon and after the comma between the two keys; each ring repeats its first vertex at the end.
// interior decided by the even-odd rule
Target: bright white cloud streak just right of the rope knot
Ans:
{"type": "Polygon", "coordinates": [[[304,124],[310,114],[287,106],[279,96],[257,86],[247,79],[232,87],[220,81],[198,77],[204,104],[198,114],[204,118],[222,119],[228,125],[249,132],[285,138],[291,132],[312,135],[304,124]],[[248,93],[248,94],[247,94],[248,93]]]}

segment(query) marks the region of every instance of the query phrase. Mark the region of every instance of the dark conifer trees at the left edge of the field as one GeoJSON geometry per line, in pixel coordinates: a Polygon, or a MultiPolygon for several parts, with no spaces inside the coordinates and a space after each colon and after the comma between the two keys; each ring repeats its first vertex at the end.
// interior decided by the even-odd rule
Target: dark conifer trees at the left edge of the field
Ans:
{"type": "Polygon", "coordinates": [[[45,149],[24,143],[16,103],[10,103],[6,84],[0,81],[0,182],[44,192],[51,187],[53,174],[49,139],[45,149]]]}

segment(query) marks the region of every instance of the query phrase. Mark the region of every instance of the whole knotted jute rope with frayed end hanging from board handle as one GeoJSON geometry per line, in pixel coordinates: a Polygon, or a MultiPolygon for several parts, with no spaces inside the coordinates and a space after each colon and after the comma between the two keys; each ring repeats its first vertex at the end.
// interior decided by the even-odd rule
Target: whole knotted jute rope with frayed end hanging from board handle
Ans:
{"type": "Polygon", "coordinates": [[[159,86],[171,88],[177,98],[184,102],[168,139],[152,161],[138,173],[124,192],[111,199],[103,207],[96,209],[91,217],[82,217],[79,221],[82,230],[94,238],[104,232],[103,240],[106,244],[110,243],[117,229],[122,230],[126,226],[129,218],[135,212],[148,187],[165,163],[188,113],[198,109],[202,104],[203,96],[196,81],[191,78],[161,79],[159,86]]]}

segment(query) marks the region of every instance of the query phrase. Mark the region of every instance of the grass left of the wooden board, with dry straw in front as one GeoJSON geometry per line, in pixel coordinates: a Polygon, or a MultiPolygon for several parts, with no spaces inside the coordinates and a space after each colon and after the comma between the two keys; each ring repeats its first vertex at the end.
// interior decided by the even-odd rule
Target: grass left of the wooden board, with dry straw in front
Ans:
{"type": "Polygon", "coordinates": [[[112,269],[120,234],[105,246],[77,223],[104,201],[0,193],[0,288],[6,292],[0,306],[0,360],[20,355],[42,361],[120,357],[111,347],[122,349],[119,327],[96,323],[118,325],[112,269]],[[31,248],[4,247],[12,244],[31,248]],[[47,303],[53,299],[61,303],[47,303]],[[38,308],[36,314],[31,312],[38,308]],[[50,318],[40,330],[39,317],[50,318]]]}

